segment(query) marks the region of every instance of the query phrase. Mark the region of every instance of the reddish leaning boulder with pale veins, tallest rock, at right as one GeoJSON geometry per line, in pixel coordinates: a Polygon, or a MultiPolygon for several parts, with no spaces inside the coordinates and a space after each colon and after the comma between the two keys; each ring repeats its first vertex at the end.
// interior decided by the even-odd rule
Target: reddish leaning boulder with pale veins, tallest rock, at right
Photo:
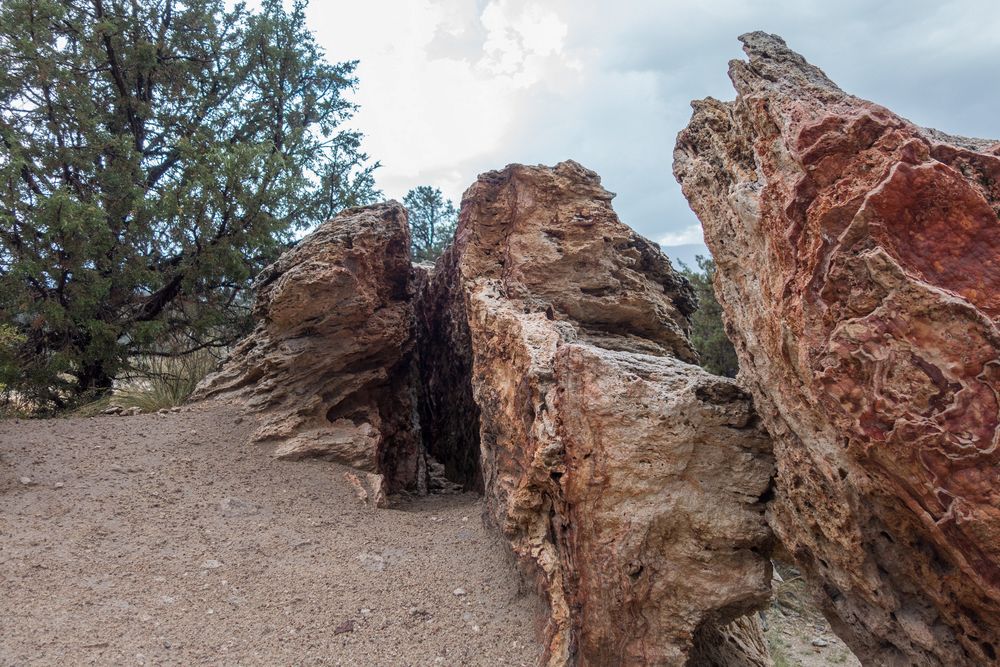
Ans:
{"type": "Polygon", "coordinates": [[[775,437],[770,519],[871,664],[1000,653],[1000,145],[741,38],[675,173],[775,437]]]}

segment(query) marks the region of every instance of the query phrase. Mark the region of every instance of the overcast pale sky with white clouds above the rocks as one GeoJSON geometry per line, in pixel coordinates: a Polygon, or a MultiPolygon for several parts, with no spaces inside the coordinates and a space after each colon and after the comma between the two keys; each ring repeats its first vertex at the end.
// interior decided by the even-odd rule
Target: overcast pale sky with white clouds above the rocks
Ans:
{"type": "Polygon", "coordinates": [[[701,243],[674,138],[692,99],[734,97],[744,32],[918,124],[1000,138],[998,0],[313,0],[308,17],[330,59],[360,60],[353,125],[388,197],[428,184],[457,204],[480,172],[572,158],[664,246],[701,243]]]}

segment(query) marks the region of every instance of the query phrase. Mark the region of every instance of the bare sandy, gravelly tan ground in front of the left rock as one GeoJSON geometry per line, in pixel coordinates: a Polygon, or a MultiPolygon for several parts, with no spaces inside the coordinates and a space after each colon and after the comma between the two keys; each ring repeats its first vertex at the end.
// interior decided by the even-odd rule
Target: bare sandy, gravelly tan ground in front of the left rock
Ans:
{"type": "Polygon", "coordinates": [[[0,422],[0,664],[534,664],[476,498],[374,511],[238,422],[0,422]]]}

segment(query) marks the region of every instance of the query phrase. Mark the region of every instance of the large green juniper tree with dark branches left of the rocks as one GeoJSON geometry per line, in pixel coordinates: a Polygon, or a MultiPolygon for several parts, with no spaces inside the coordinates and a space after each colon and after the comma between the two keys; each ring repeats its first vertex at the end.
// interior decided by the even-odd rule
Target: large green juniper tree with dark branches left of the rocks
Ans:
{"type": "Polygon", "coordinates": [[[60,407],[164,337],[225,346],[296,231],[377,197],[304,9],[0,4],[0,382],[60,407]]]}

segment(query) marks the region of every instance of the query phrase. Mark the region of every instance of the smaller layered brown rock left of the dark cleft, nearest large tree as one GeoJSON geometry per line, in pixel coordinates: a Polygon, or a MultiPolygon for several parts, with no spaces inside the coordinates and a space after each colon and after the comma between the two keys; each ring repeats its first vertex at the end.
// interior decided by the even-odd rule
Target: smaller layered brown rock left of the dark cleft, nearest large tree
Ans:
{"type": "Polygon", "coordinates": [[[278,457],[383,475],[389,492],[425,488],[409,244],[396,202],[321,225],[257,278],[256,330],[195,397],[245,401],[262,416],[253,439],[278,457]]]}

